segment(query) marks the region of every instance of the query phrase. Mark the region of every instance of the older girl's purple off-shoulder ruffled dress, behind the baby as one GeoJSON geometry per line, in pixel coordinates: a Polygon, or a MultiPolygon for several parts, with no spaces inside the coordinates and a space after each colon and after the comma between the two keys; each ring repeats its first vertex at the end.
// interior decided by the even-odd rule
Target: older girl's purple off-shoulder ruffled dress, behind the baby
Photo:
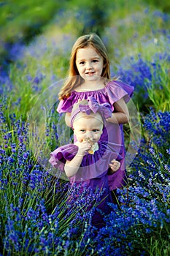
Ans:
{"type": "MultiPolygon", "coordinates": [[[[57,111],[58,113],[72,112],[72,106],[77,103],[78,100],[88,99],[88,97],[95,98],[98,103],[108,102],[112,105],[112,111],[114,112],[113,104],[119,99],[124,99],[128,102],[134,92],[133,86],[128,86],[119,80],[112,80],[107,83],[104,89],[98,89],[96,91],[72,91],[71,95],[67,99],[61,99],[59,102],[57,111]]],[[[119,154],[122,157],[120,169],[117,170],[114,175],[109,176],[109,189],[114,190],[118,187],[122,187],[126,184],[126,173],[125,173],[125,146],[124,146],[124,135],[123,135],[123,124],[112,124],[107,122],[101,140],[109,141],[111,143],[122,144],[119,154]]]]}

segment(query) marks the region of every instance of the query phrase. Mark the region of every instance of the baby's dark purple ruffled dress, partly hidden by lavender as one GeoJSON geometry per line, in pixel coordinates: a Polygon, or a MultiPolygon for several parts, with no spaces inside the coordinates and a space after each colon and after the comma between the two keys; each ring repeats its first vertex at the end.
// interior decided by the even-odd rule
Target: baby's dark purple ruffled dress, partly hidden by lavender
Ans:
{"type": "MultiPolygon", "coordinates": [[[[112,203],[112,196],[108,185],[109,176],[107,175],[109,163],[112,159],[121,159],[120,155],[115,152],[117,151],[115,147],[116,145],[113,143],[109,144],[104,141],[99,141],[98,150],[95,151],[94,154],[85,154],[77,174],[69,178],[72,185],[76,185],[80,188],[80,193],[85,187],[90,187],[93,192],[96,191],[96,188],[102,191],[100,197],[101,203],[99,203],[98,209],[105,214],[109,214],[110,211],[107,203],[112,203]]],[[[61,146],[50,154],[49,162],[53,167],[64,172],[66,160],[72,160],[77,154],[77,150],[78,147],[74,144],[61,146]]],[[[88,209],[90,209],[90,207],[88,207],[88,209]]],[[[93,225],[101,227],[102,219],[102,215],[96,211],[92,219],[93,225]]]]}

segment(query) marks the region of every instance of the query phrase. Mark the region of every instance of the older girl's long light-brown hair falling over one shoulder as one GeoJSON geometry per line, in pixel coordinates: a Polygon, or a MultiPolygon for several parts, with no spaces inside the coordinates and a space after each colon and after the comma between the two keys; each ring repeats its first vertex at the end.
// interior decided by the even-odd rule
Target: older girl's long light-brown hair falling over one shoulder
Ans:
{"type": "Polygon", "coordinates": [[[98,37],[97,34],[85,34],[77,39],[72,47],[72,53],[69,64],[69,78],[66,80],[66,83],[63,85],[63,88],[58,94],[58,99],[64,99],[70,96],[72,90],[80,86],[83,82],[83,79],[80,77],[80,74],[77,70],[76,66],[76,55],[77,50],[81,48],[86,48],[88,46],[92,46],[96,52],[103,58],[104,60],[104,69],[101,74],[103,78],[107,78],[110,80],[110,70],[109,70],[109,56],[107,54],[107,48],[102,42],[101,38],[98,37]]]}

